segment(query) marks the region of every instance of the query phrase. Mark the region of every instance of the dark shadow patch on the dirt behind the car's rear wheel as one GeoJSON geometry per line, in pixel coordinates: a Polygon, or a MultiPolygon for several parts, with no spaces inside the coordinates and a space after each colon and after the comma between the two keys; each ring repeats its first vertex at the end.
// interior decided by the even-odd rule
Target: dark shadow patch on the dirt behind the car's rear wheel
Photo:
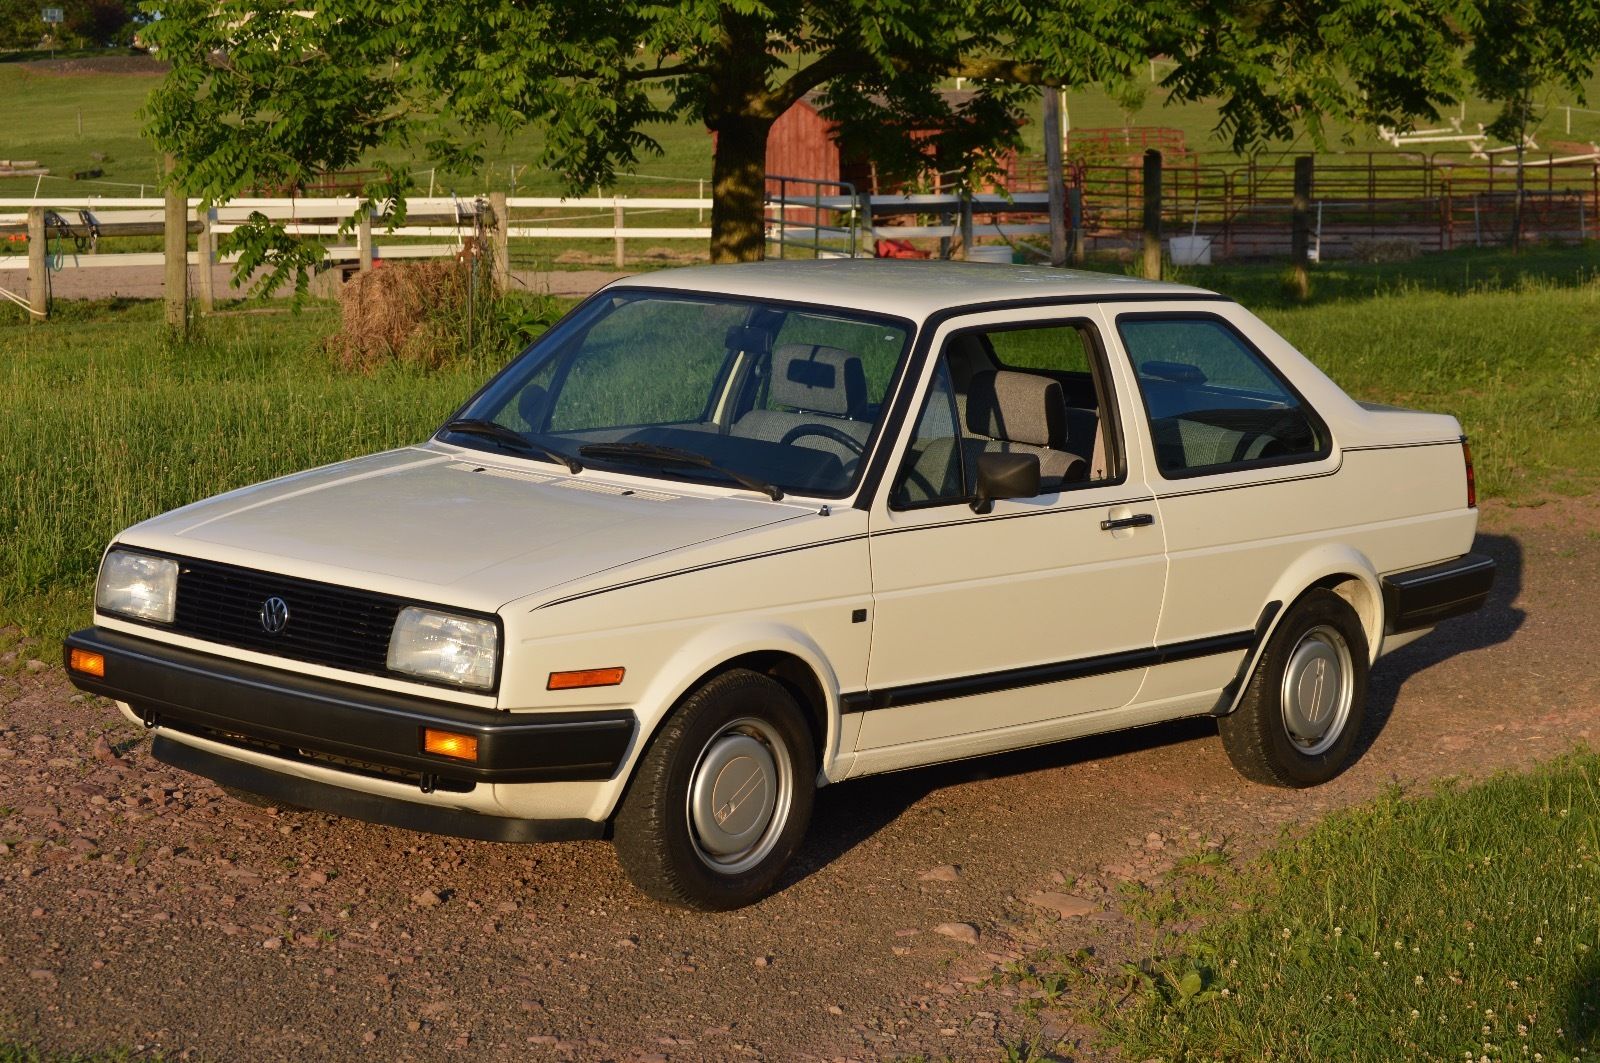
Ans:
{"type": "Polygon", "coordinates": [[[1506,642],[1526,620],[1528,615],[1514,605],[1522,596],[1522,543],[1509,535],[1478,535],[1472,549],[1494,559],[1490,600],[1478,612],[1446,620],[1427,637],[1378,661],[1366,685],[1366,732],[1357,757],[1365,756],[1389,725],[1406,680],[1459,653],[1506,642]]]}

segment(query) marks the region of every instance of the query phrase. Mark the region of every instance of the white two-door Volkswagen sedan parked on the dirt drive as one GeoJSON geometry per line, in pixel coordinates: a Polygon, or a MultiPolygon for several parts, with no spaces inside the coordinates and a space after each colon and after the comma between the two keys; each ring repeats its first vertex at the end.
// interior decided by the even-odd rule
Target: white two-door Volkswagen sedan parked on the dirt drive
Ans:
{"type": "Polygon", "coordinates": [[[610,285],[414,447],[146,520],[72,680],[179,768],[770,892],[818,786],[1214,716],[1360,748],[1373,661],[1480,607],[1450,416],[1210,291],[765,263],[610,285]]]}

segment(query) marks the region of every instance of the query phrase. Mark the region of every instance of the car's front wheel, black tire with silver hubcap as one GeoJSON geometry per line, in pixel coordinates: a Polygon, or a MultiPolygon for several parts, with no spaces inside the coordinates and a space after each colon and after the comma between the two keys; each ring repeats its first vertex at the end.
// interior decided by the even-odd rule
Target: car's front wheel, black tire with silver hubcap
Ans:
{"type": "Polygon", "coordinates": [[[766,676],[726,671],[656,732],[613,821],[616,855],[634,885],[659,901],[744,908],[766,897],[794,858],[814,792],[816,743],[800,706],[766,676]],[[742,831],[723,831],[725,823],[742,831]]]}

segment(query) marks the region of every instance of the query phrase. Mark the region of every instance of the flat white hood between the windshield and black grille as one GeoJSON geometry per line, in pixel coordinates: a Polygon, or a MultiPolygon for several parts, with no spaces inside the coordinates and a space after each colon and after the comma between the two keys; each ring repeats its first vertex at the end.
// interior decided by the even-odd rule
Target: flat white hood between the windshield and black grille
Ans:
{"type": "Polygon", "coordinates": [[[464,608],[790,520],[810,507],[491,455],[397,450],[219,495],[122,541],[464,608]]]}

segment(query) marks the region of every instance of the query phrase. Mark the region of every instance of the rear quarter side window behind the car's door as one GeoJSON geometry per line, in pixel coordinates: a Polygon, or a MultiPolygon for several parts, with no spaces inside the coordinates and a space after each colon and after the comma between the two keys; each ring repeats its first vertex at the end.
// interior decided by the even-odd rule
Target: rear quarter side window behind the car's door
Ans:
{"type": "Polygon", "coordinates": [[[1214,317],[1117,320],[1163,475],[1280,464],[1326,453],[1326,432],[1288,383],[1214,317]]]}

